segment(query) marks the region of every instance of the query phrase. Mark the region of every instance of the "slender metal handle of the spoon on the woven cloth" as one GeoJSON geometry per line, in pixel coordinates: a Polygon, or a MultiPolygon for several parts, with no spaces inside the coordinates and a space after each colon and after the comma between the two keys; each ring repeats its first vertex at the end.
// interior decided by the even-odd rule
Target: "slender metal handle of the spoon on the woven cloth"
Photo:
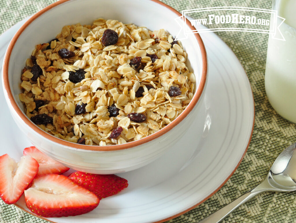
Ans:
{"type": "MultiPolygon", "coordinates": [[[[263,183],[265,182],[263,181],[263,183]]],[[[263,191],[266,191],[267,189],[266,187],[263,187],[263,183],[259,184],[257,187],[248,191],[244,195],[238,197],[236,200],[227,204],[226,206],[214,212],[213,214],[210,214],[205,219],[202,219],[199,223],[213,223],[213,222],[218,223],[222,221],[227,215],[229,215],[232,211],[234,211],[236,208],[241,206],[247,200],[250,200],[252,197],[254,197],[255,195],[258,195],[263,191]]]]}

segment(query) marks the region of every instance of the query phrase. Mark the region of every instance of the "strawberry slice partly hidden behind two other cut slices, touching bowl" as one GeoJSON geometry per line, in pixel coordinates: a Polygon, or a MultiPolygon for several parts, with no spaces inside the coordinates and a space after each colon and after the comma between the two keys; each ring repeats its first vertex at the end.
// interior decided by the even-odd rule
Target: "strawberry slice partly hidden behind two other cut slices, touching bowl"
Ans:
{"type": "Polygon", "coordinates": [[[49,156],[45,155],[35,146],[30,146],[25,148],[23,153],[24,155],[30,155],[39,163],[39,171],[37,176],[41,176],[49,173],[62,174],[70,169],[62,165],[61,163],[53,160],[49,156]]]}

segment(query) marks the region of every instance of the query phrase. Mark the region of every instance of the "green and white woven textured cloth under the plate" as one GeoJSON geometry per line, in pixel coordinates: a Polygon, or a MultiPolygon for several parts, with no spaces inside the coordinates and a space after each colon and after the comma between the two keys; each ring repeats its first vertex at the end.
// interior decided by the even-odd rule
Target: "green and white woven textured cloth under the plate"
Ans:
{"type": "MultiPolygon", "coordinates": [[[[55,0],[0,0],[0,34],[55,0]]],[[[178,11],[202,7],[239,6],[271,9],[272,0],[163,0],[178,11]]],[[[255,100],[255,127],[242,163],[226,184],[200,206],[168,222],[198,222],[257,186],[278,154],[295,141],[295,124],[281,118],[269,104],[264,89],[268,35],[218,32],[239,58],[249,77],[255,100]]],[[[1,180],[1,179],[0,179],[1,180]]],[[[0,221],[46,222],[0,199],[0,221]]],[[[296,222],[296,193],[263,193],[242,205],[225,222],[296,222]]]]}

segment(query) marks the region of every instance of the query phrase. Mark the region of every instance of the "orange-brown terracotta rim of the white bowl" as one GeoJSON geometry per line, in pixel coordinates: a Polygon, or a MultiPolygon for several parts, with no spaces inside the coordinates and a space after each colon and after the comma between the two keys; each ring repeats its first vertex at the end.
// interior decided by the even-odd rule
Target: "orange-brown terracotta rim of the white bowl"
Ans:
{"type": "MultiPolygon", "coordinates": [[[[201,51],[201,55],[202,55],[202,74],[201,74],[201,81],[200,84],[198,86],[198,89],[196,90],[191,102],[189,103],[189,105],[186,107],[186,109],[175,119],[173,120],[173,122],[171,122],[169,125],[167,125],[166,127],[158,130],[156,133],[153,133],[152,135],[146,136],[144,138],[141,138],[139,140],[136,141],[132,141],[126,144],[120,144],[120,145],[111,145],[111,146],[89,146],[89,145],[80,145],[80,144],[76,144],[76,143],[72,143],[60,138],[57,138],[53,135],[50,135],[49,133],[46,133],[44,130],[42,130],[41,128],[39,128],[37,125],[33,124],[33,122],[31,122],[31,120],[29,120],[29,118],[22,112],[22,110],[20,109],[20,107],[17,105],[10,85],[9,85],[9,78],[8,78],[8,67],[9,67],[9,59],[11,56],[11,52],[15,46],[15,43],[17,42],[19,36],[22,34],[22,32],[39,16],[43,15],[45,12],[47,12],[49,9],[52,9],[62,3],[65,3],[67,1],[71,1],[71,0],[60,0],[57,1],[49,6],[47,6],[46,8],[42,9],[41,11],[37,12],[35,15],[33,15],[32,17],[30,17],[28,19],[28,21],[21,26],[21,28],[17,31],[17,33],[13,36],[11,42],[9,43],[9,46],[7,48],[5,57],[4,57],[4,63],[3,63],[3,81],[4,81],[4,88],[6,90],[7,96],[9,98],[9,101],[13,107],[13,109],[17,112],[17,114],[20,116],[20,118],[22,119],[23,122],[25,122],[25,124],[27,124],[30,128],[32,128],[36,133],[38,133],[39,135],[57,143],[57,144],[61,144],[63,146],[67,146],[67,147],[72,147],[75,149],[84,149],[84,150],[92,150],[92,151],[115,151],[115,150],[121,150],[121,149],[128,149],[134,146],[139,146],[141,144],[147,143],[155,138],[158,138],[159,136],[162,136],[163,134],[167,133],[168,131],[170,131],[172,128],[174,128],[176,125],[178,125],[189,113],[190,111],[192,111],[192,109],[194,108],[194,106],[197,104],[197,102],[200,99],[200,96],[202,95],[202,92],[204,90],[205,87],[205,83],[206,83],[206,79],[207,79],[207,56],[206,56],[206,51],[205,51],[205,45],[202,42],[202,39],[200,37],[200,35],[198,33],[194,33],[194,36],[197,39],[197,42],[199,44],[200,47],[200,51],[201,51]]],[[[172,7],[164,4],[163,2],[160,2],[158,0],[150,0],[153,1],[155,3],[158,3],[168,9],[170,9],[171,11],[173,11],[174,13],[176,13],[176,15],[178,17],[182,16],[180,12],[178,12],[176,9],[173,9],[172,7]]],[[[195,28],[191,25],[191,23],[189,22],[189,20],[185,17],[186,19],[186,24],[187,26],[193,31],[195,30],[195,28]]]]}

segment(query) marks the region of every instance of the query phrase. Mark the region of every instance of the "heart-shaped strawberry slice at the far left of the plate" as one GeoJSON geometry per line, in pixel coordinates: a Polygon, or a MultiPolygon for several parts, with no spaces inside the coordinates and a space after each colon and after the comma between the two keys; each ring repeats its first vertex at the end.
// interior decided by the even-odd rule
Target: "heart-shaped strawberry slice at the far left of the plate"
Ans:
{"type": "Polygon", "coordinates": [[[30,157],[23,156],[20,162],[9,157],[0,156],[0,194],[7,204],[17,202],[24,190],[38,173],[38,162],[30,157]]]}

